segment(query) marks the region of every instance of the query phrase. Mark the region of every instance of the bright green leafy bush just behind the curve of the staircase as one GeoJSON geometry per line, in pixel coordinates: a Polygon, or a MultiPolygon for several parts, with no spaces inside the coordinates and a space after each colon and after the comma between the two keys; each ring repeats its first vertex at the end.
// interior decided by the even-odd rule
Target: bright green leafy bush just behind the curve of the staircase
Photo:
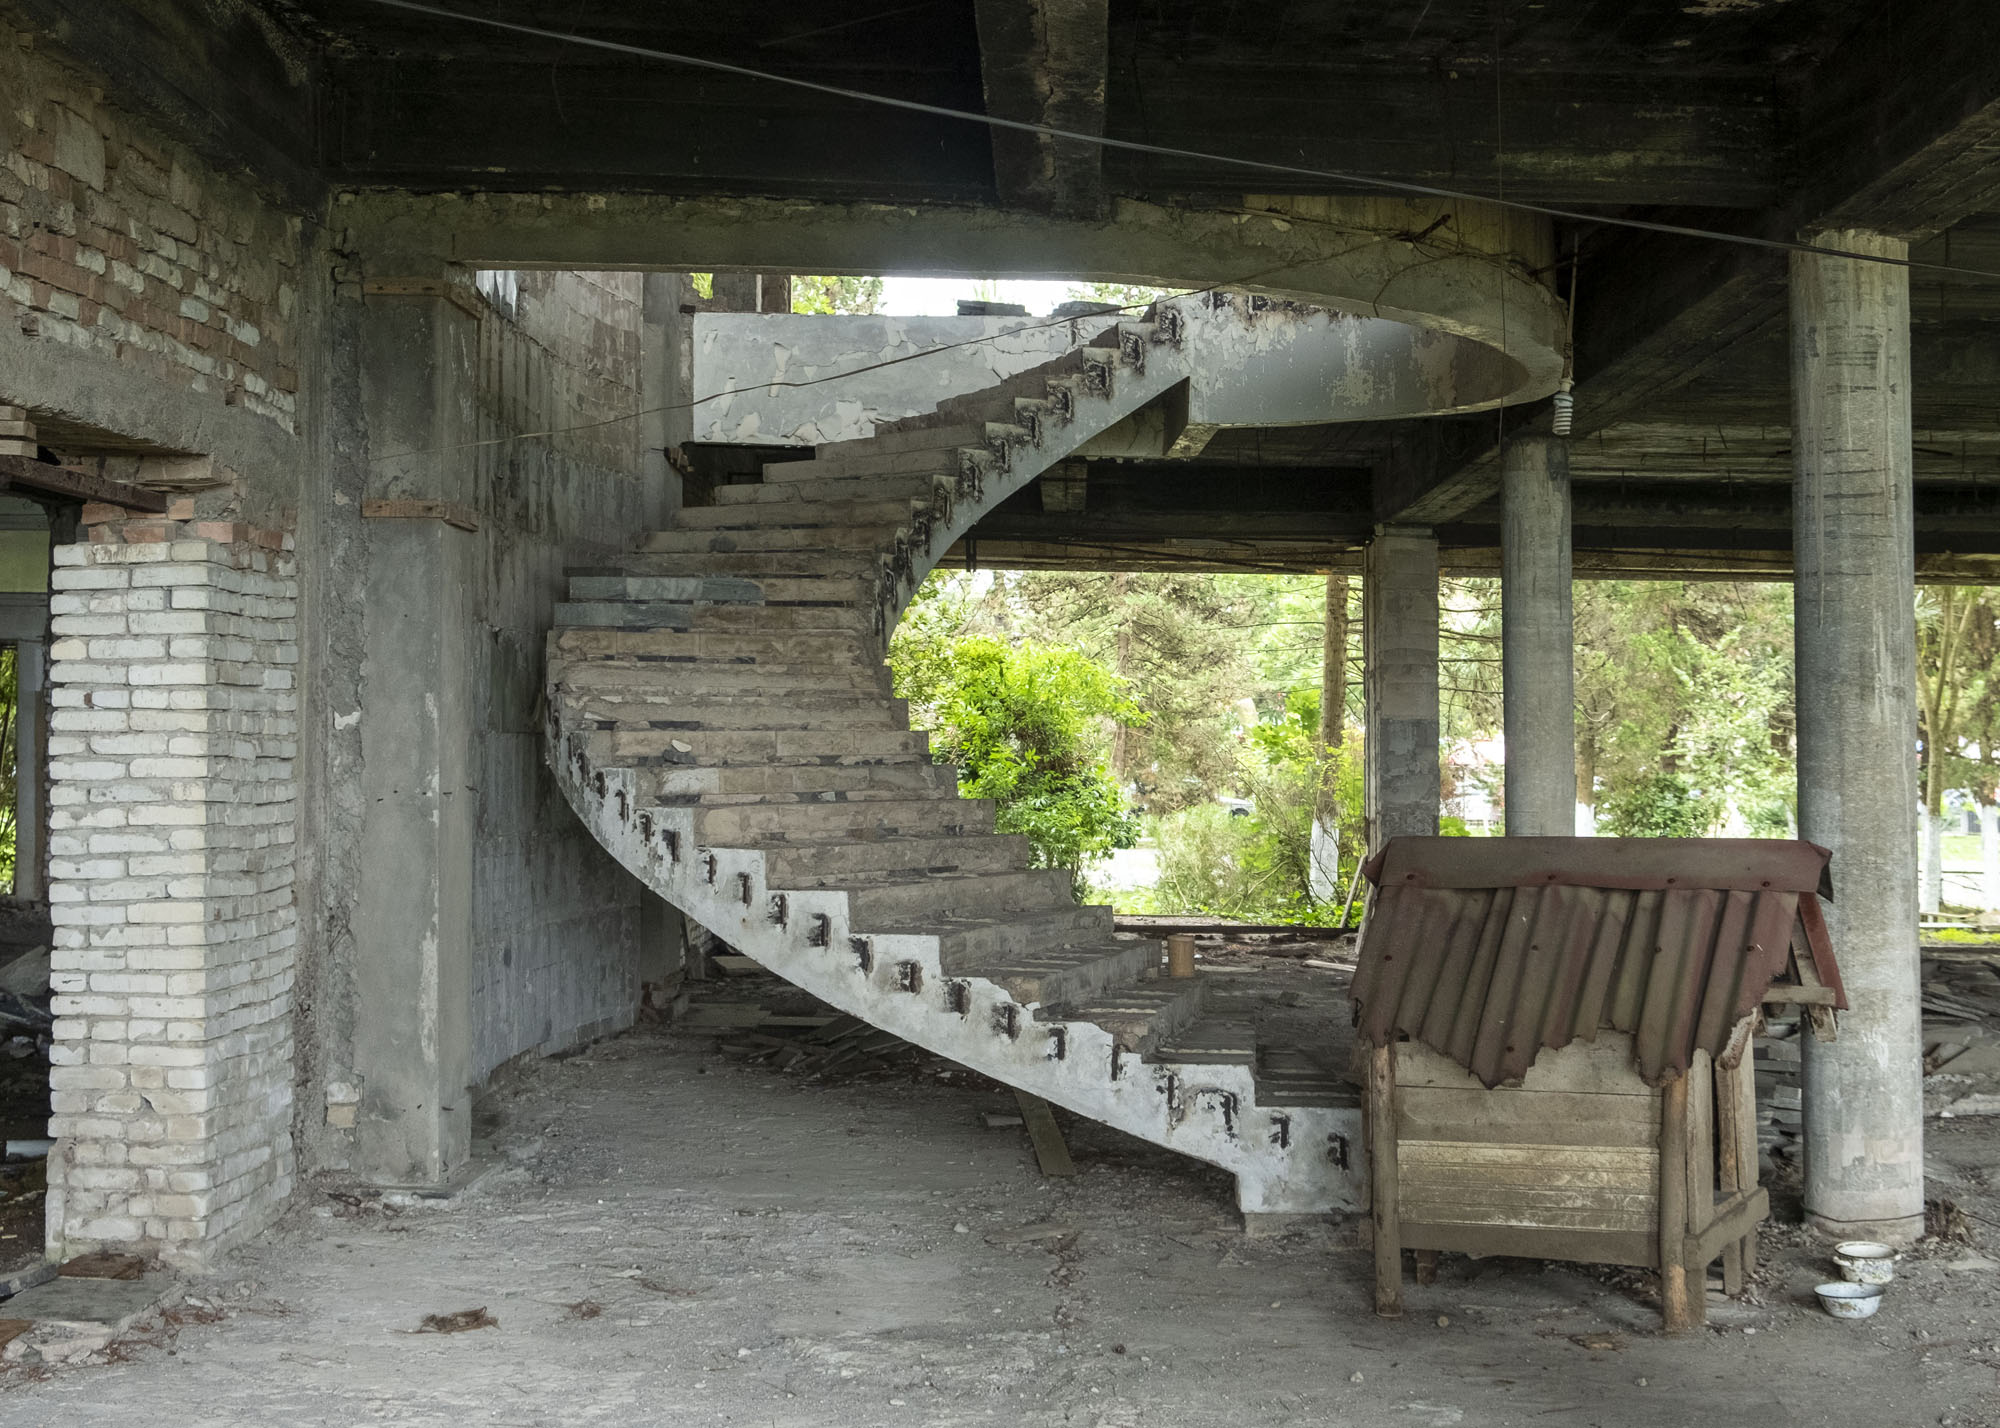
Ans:
{"type": "Polygon", "coordinates": [[[890,642],[896,692],[932,732],[932,756],[956,764],[966,798],[992,798],[998,828],[1024,834],[1036,866],[1084,868],[1138,840],[1104,762],[1106,724],[1138,726],[1140,708],[1102,664],[1062,646],[960,634],[962,608],[922,600],[890,642]]]}

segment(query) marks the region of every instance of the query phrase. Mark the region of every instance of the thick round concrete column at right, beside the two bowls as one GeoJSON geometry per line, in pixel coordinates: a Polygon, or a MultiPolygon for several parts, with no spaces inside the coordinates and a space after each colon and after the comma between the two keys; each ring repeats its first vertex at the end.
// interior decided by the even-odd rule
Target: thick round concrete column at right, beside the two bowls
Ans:
{"type": "MultiPolygon", "coordinates": [[[[1906,256],[1868,232],[1820,246],[1906,256]]],[[[1852,1010],[1806,1040],[1806,1212],[1848,1238],[1924,1230],[1916,950],[1910,280],[1792,256],[1798,830],[1832,848],[1826,910],[1852,1010]]]]}

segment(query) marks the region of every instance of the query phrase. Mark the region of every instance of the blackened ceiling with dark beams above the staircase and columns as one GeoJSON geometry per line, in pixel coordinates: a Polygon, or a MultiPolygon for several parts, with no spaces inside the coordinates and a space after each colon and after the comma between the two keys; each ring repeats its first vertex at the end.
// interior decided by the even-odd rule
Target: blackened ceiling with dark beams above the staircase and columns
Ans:
{"type": "MultiPolygon", "coordinates": [[[[1240,202],[1386,178],[1570,210],[1578,520],[1622,548],[1788,540],[1786,258],[1604,220],[1780,240],[1872,228],[1916,240],[1922,262],[2000,272],[2000,46],[1992,6],[1972,0],[454,0],[462,16],[1346,178],[994,132],[374,0],[14,4],[300,204],[328,186],[556,188],[1092,218],[1120,196],[1240,202]]],[[[1996,552],[2000,282],[1920,270],[1912,318],[1920,546],[1996,552]]],[[[1422,520],[1476,544],[1492,536],[1498,438],[1538,420],[1224,432],[1202,460],[1276,474],[1238,484],[1260,502],[1246,532],[1312,520],[1352,542],[1374,520],[1422,520]]],[[[1140,520],[1142,484],[1106,466],[1106,520],[1158,528],[1178,510],[1216,528],[1214,502],[1156,476],[1140,520]]]]}

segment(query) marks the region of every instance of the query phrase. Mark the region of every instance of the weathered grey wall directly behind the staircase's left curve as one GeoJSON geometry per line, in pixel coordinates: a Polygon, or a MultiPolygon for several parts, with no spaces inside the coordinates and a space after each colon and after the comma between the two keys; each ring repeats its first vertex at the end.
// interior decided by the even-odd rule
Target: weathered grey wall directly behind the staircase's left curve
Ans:
{"type": "Polygon", "coordinates": [[[480,322],[480,518],[470,610],[472,1074],[630,1024],[640,884],[576,820],[542,762],[542,658],[564,568],[646,530],[638,274],[520,274],[480,322]],[[518,432],[556,436],[504,440],[518,432]]]}

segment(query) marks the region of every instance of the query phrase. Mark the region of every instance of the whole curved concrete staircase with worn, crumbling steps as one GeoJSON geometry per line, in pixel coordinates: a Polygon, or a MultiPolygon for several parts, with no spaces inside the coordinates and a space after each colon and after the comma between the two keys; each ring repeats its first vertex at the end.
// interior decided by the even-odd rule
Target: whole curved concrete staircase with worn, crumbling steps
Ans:
{"type": "Polygon", "coordinates": [[[882,662],[938,556],[1118,420],[1200,382],[1180,308],[722,486],[570,576],[550,764],[654,892],[828,1004],[1236,1176],[1246,1214],[1366,1202],[1350,1088],[1260,1058],[1208,978],[1030,866],[958,796],[882,662]]]}

